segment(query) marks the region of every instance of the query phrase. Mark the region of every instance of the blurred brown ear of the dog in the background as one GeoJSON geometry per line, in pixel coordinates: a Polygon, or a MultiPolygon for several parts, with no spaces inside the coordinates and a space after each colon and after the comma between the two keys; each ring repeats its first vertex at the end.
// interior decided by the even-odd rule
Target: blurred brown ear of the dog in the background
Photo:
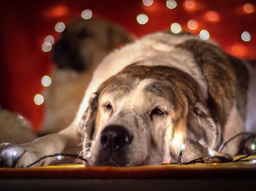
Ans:
{"type": "Polygon", "coordinates": [[[109,48],[114,49],[119,45],[130,43],[131,39],[121,27],[110,26],[108,28],[109,48]]]}

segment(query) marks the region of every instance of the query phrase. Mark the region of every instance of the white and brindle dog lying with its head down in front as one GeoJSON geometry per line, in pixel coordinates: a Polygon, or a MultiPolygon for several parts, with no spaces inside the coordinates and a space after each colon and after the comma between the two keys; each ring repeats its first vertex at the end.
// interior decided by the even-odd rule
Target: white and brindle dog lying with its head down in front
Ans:
{"type": "Polygon", "coordinates": [[[183,144],[181,162],[229,158],[240,138],[223,152],[221,144],[241,131],[255,132],[255,113],[255,62],[189,33],[158,32],[101,62],[67,129],[23,145],[2,144],[0,160],[26,167],[73,150],[88,159],[86,165],[131,167],[176,162],[183,144]]]}

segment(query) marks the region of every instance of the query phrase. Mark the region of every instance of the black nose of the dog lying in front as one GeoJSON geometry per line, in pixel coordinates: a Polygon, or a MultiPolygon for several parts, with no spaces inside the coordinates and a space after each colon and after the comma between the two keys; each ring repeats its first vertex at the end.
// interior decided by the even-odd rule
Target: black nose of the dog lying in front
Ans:
{"type": "Polygon", "coordinates": [[[130,145],[131,141],[133,141],[133,135],[121,125],[106,126],[101,132],[101,144],[108,150],[118,150],[130,145]]]}

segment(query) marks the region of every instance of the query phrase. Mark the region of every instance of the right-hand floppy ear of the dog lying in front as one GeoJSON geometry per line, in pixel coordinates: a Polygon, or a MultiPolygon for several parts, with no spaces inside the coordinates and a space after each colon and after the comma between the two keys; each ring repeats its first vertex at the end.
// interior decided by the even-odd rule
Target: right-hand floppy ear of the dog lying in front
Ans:
{"type": "Polygon", "coordinates": [[[197,101],[188,114],[189,134],[201,146],[216,150],[220,144],[220,125],[214,121],[207,107],[197,101]]]}

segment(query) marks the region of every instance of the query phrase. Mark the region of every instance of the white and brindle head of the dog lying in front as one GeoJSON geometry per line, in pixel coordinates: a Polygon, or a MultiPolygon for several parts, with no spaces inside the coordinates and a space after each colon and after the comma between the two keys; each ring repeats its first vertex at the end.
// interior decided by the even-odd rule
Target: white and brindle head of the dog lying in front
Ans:
{"type": "Polygon", "coordinates": [[[217,124],[193,78],[165,66],[130,65],[106,80],[81,122],[89,165],[135,166],[208,156],[217,124]],[[90,141],[92,139],[93,141],[90,141]]]}

